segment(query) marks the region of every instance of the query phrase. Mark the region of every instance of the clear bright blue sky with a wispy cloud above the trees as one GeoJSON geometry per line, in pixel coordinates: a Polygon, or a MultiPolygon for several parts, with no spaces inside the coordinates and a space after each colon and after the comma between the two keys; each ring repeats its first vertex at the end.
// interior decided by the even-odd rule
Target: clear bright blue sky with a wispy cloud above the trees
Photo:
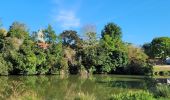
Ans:
{"type": "Polygon", "coordinates": [[[98,36],[109,22],[119,25],[123,40],[142,45],[155,37],[170,37],[170,0],[1,0],[0,20],[9,28],[23,22],[30,32],[51,24],[56,33],[93,25],[98,36]]]}

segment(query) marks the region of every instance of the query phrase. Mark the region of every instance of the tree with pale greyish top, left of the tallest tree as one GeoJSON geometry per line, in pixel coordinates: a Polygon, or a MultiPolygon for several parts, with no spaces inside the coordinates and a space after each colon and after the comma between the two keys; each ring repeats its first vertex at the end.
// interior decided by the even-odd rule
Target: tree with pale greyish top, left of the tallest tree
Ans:
{"type": "Polygon", "coordinates": [[[86,38],[83,40],[82,48],[79,50],[78,58],[81,59],[82,66],[88,73],[93,73],[96,66],[98,41],[96,33],[85,33],[86,38]]]}

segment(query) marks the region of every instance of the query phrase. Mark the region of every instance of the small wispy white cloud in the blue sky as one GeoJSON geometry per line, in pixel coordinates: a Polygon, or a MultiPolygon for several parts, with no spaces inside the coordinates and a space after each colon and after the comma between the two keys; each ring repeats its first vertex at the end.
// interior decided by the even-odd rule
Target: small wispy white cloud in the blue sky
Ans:
{"type": "Polygon", "coordinates": [[[77,28],[80,26],[80,19],[76,16],[76,13],[71,10],[60,10],[54,17],[55,21],[61,25],[62,28],[77,28]]]}

